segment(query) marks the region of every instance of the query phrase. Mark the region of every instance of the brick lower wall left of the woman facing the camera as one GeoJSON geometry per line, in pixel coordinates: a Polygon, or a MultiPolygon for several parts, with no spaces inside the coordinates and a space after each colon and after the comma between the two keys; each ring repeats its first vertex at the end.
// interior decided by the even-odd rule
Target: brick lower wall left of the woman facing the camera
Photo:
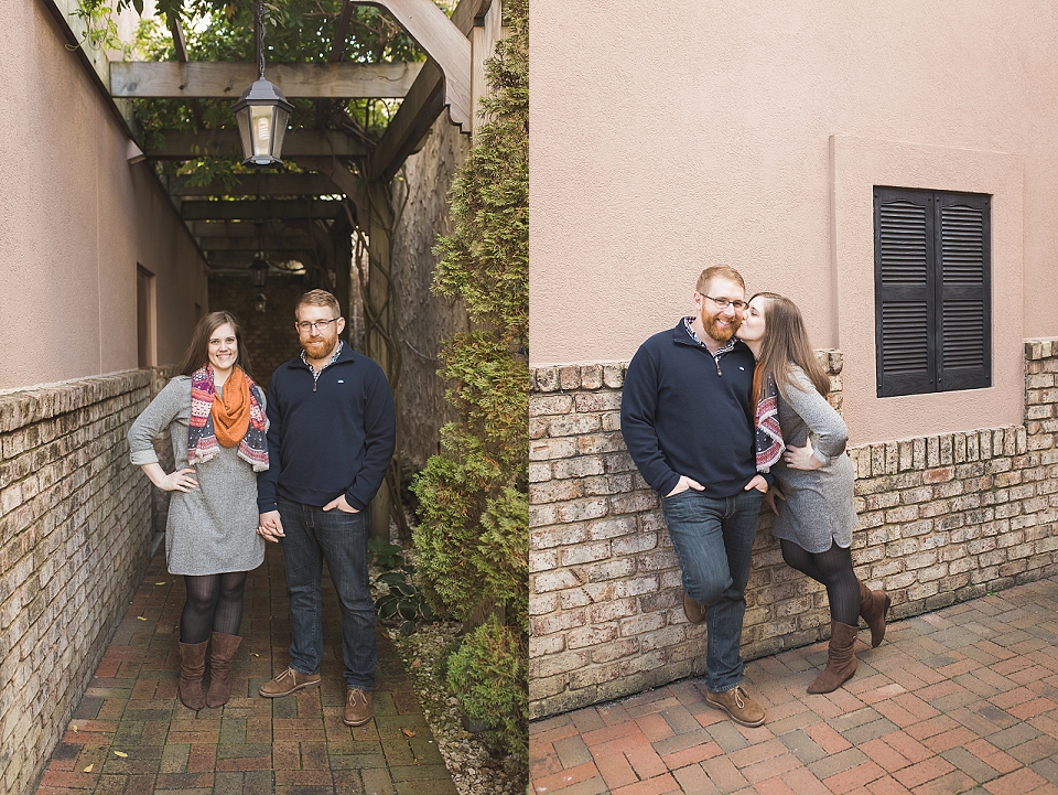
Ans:
{"type": "Polygon", "coordinates": [[[126,433],[151,374],[0,395],[0,791],[28,793],[147,565],[126,433]]]}

